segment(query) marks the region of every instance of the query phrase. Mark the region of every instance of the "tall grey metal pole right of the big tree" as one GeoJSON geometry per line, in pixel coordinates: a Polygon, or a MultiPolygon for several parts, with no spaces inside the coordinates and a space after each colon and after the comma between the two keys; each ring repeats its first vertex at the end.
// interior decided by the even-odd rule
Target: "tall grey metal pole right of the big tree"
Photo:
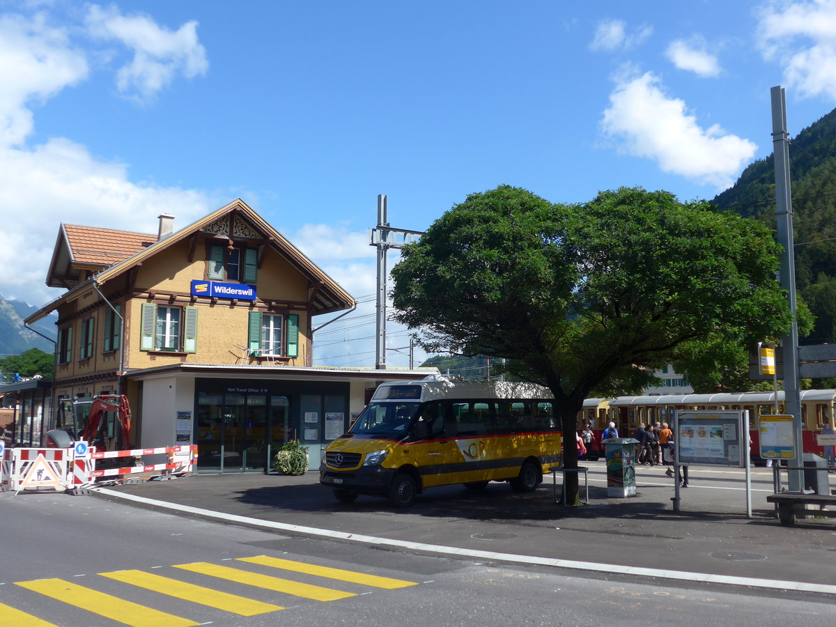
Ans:
{"type": "MultiPolygon", "coordinates": [[[[787,133],[787,101],[783,88],[778,85],[770,90],[772,97],[772,154],[775,158],[775,219],[777,241],[783,247],[780,258],[780,283],[787,290],[793,324],[783,335],[784,411],[793,415],[796,456],[789,460],[792,466],[803,466],[801,428],[801,393],[798,390],[798,324],[795,299],[795,245],[793,243],[793,199],[789,178],[789,135],[787,133]]],[[[803,492],[803,470],[788,471],[790,492],[803,492]]]]}

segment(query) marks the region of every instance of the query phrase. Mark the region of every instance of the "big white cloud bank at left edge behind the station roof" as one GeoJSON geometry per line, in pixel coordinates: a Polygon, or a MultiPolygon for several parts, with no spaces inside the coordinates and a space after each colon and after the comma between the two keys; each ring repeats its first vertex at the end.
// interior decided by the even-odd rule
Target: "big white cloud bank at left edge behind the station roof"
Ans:
{"type": "Polygon", "coordinates": [[[61,293],[45,284],[61,222],[154,233],[161,212],[184,226],[215,208],[199,191],[131,182],[125,165],[97,161],[73,141],[26,145],[32,105],[89,74],[70,32],[50,27],[45,13],[0,16],[0,294],[38,306],[61,293]]]}

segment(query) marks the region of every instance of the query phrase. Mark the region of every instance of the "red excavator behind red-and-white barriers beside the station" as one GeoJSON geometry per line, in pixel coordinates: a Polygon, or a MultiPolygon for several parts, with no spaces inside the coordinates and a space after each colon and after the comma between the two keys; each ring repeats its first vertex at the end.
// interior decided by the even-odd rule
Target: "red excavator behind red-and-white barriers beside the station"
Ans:
{"type": "Polygon", "coordinates": [[[68,448],[79,440],[95,446],[96,451],[130,451],[133,446],[125,395],[61,399],[55,427],[47,431],[47,446],[68,448]]]}

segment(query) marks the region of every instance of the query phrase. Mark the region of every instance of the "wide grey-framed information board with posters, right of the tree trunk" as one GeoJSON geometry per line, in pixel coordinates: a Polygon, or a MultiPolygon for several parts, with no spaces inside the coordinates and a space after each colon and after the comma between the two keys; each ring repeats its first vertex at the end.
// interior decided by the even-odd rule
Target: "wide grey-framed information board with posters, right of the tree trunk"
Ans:
{"type": "Polygon", "coordinates": [[[746,466],[749,434],[742,411],[677,411],[674,424],[680,464],[746,466]]]}

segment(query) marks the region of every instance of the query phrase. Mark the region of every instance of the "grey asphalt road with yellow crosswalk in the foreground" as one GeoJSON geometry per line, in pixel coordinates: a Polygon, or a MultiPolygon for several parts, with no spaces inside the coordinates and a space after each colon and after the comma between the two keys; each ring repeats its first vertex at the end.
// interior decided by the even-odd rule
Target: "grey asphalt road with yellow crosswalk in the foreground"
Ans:
{"type": "MultiPolygon", "coordinates": [[[[256,477],[236,479],[246,483],[256,477]]],[[[293,478],[302,481],[297,487],[308,485],[308,479],[293,478]]],[[[193,480],[204,481],[191,477],[133,490],[181,490],[193,480]]],[[[226,477],[215,477],[218,482],[231,485],[226,477]]],[[[323,497],[330,495],[326,491],[311,498],[323,497]]],[[[497,492],[492,500],[504,499],[497,492]]],[[[383,501],[370,503],[385,507],[383,501]]],[[[428,505],[429,493],[423,503],[428,505]]],[[[161,507],[135,507],[115,497],[7,493],[0,494],[0,511],[5,531],[0,560],[0,624],[4,627],[35,624],[31,617],[61,627],[599,625],[615,621],[644,625],[670,620],[685,627],[732,620],[741,627],[787,623],[818,627],[831,625],[833,620],[833,599],[823,594],[776,595],[760,589],[414,552],[385,544],[278,533],[250,524],[210,522],[191,514],[173,515],[161,507]],[[281,568],[275,565],[277,560],[281,568]],[[230,570],[237,581],[219,575],[227,576],[230,570]],[[284,583],[277,584],[276,579],[284,583]],[[150,588],[138,583],[148,580],[150,588]],[[183,584],[208,592],[187,598],[196,593],[193,589],[184,592],[183,584]],[[301,588],[295,587],[298,584],[301,588]],[[62,594],[69,597],[62,600],[62,594]],[[320,594],[326,596],[314,598],[320,594]],[[232,603],[226,595],[239,599],[233,608],[237,611],[225,605],[232,603]]],[[[422,514],[416,511],[402,517],[405,529],[410,528],[411,517],[422,514]]],[[[461,524],[470,522],[454,521],[449,526],[461,524]]],[[[513,524],[521,526],[518,519],[513,524]]]]}

